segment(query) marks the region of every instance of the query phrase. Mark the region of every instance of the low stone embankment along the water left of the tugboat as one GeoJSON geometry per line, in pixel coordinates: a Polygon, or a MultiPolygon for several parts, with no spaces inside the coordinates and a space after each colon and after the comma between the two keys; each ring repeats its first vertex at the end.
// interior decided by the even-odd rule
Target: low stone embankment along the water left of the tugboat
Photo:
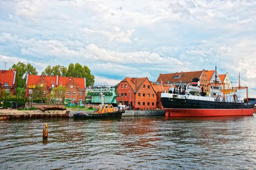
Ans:
{"type": "Polygon", "coordinates": [[[46,117],[68,117],[66,110],[0,110],[0,116],[9,116],[10,119],[25,119],[25,118],[46,118],[46,117]]]}

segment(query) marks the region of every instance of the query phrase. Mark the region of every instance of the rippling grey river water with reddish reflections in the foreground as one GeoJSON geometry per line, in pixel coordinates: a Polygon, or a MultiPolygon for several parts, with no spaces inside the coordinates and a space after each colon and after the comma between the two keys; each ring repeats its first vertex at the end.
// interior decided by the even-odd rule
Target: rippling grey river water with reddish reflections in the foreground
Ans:
{"type": "Polygon", "coordinates": [[[251,170],[255,139],[256,115],[8,120],[0,121],[0,169],[251,170]]]}

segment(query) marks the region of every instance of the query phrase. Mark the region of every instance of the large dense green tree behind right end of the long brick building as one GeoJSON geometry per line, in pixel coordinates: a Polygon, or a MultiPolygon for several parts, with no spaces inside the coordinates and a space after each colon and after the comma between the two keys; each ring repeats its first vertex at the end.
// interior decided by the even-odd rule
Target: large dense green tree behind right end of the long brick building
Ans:
{"type": "Polygon", "coordinates": [[[71,63],[67,68],[67,77],[85,77],[86,79],[86,86],[93,86],[94,85],[94,75],[91,74],[90,69],[88,66],[82,66],[79,63],[75,65],[71,63]]]}

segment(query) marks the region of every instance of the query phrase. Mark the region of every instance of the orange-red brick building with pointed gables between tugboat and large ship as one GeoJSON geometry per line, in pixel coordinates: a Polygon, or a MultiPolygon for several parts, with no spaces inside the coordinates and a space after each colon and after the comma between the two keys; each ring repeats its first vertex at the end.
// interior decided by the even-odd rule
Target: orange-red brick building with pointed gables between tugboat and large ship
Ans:
{"type": "MultiPolygon", "coordinates": [[[[117,103],[125,104],[126,106],[139,105],[140,109],[161,108],[159,94],[155,91],[155,89],[159,89],[158,87],[159,85],[153,84],[147,77],[126,77],[117,86],[117,103]]],[[[167,86],[164,87],[165,89],[169,88],[167,86]]]]}

